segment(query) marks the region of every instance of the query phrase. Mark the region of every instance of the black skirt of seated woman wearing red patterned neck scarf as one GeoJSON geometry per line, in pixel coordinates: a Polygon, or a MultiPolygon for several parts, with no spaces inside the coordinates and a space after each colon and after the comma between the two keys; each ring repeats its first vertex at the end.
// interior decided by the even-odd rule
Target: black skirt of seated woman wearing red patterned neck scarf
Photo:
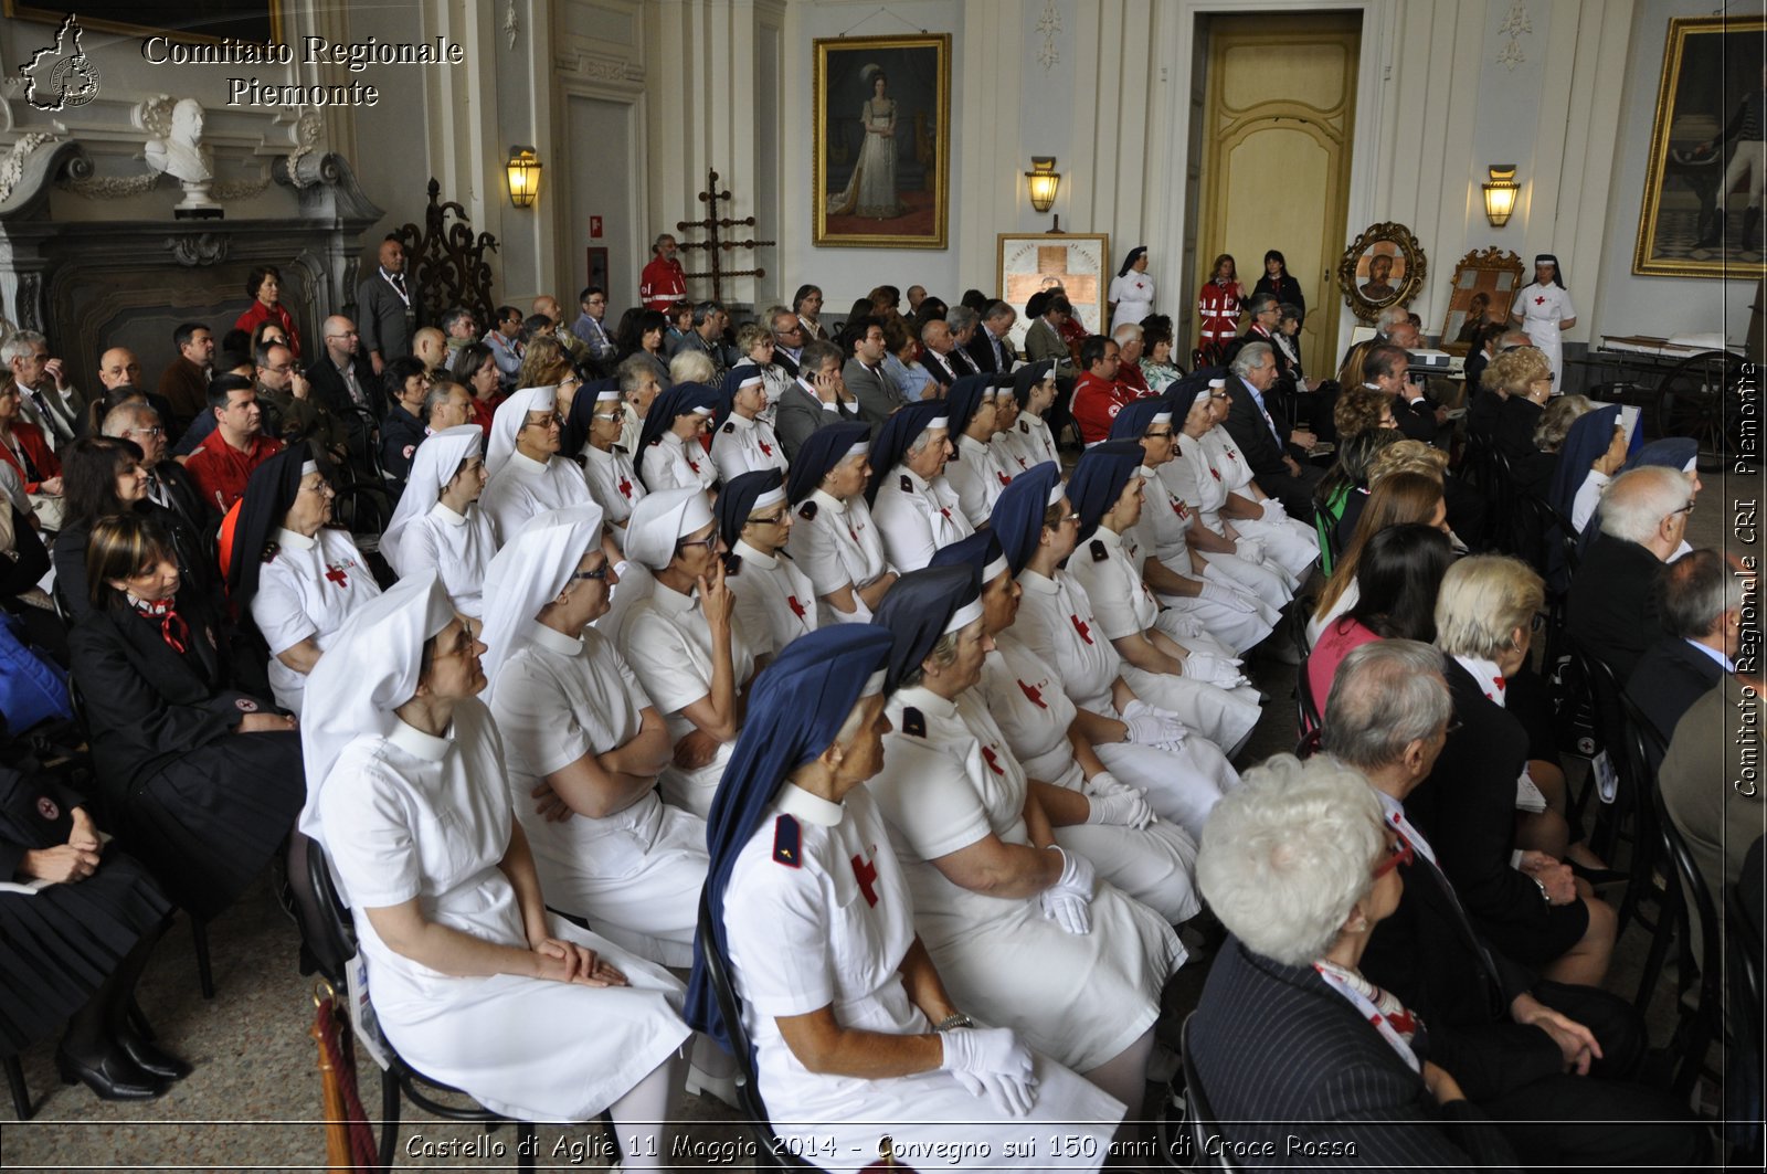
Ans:
{"type": "Polygon", "coordinates": [[[209,919],[233,903],[306,801],[300,734],[231,734],[138,780],[117,835],[171,898],[209,919]]]}

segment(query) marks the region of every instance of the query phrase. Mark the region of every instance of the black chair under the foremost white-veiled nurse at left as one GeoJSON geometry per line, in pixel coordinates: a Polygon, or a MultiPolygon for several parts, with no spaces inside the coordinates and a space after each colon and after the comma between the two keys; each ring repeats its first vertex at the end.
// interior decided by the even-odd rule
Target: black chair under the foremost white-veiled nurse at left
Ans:
{"type": "MultiPolygon", "coordinates": [[[[299,831],[288,836],[288,888],[295,896],[295,921],[300,925],[300,960],[302,974],[318,971],[332,990],[343,994],[348,988],[345,967],[355,957],[355,925],[350,909],[332,884],[330,865],[325,849],[299,831]]],[[[406,1064],[398,1048],[385,1036],[378,1040],[391,1059],[389,1068],[380,1073],[380,1165],[391,1167],[398,1153],[401,1096],[428,1114],[447,1121],[479,1121],[488,1128],[497,1128],[509,1117],[491,1112],[481,1105],[445,1105],[429,1091],[466,1096],[459,1089],[431,1080],[406,1064]]],[[[534,1123],[516,1123],[516,1169],[534,1169],[534,1123]]]]}

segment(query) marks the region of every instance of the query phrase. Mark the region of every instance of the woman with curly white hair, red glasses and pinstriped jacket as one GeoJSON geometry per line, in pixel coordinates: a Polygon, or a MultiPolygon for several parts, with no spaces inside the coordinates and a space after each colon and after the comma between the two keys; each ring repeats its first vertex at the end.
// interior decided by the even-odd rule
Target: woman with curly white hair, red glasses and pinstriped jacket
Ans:
{"type": "Polygon", "coordinates": [[[1422,1020],[1357,969],[1408,858],[1368,780],[1325,757],[1278,755],[1210,813],[1196,879],[1233,937],[1187,1043],[1244,1163],[1514,1165],[1422,1020]]]}

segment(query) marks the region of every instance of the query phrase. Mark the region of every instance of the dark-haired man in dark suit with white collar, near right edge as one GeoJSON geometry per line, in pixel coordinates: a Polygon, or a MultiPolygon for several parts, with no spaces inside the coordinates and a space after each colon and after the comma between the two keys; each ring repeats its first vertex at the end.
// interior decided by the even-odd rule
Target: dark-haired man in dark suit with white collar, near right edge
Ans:
{"type": "Polygon", "coordinates": [[[1665,637],[1645,649],[1626,695],[1650,720],[1656,755],[1693,702],[1735,672],[1742,647],[1744,576],[1730,575],[1716,550],[1695,550],[1663,568],[1657,583],[1665,637]]]}

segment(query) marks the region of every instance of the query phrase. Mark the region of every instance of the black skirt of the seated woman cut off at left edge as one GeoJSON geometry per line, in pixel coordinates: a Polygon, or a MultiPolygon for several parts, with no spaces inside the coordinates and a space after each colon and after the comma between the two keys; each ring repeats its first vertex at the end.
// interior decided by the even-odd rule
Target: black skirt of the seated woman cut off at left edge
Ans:
{"type": "Polygon", "coordinates": [[[171,902],[115,845],[78,884],[0,893],[0,1054],[14,1056],[83,1008],[171,902]]]}

